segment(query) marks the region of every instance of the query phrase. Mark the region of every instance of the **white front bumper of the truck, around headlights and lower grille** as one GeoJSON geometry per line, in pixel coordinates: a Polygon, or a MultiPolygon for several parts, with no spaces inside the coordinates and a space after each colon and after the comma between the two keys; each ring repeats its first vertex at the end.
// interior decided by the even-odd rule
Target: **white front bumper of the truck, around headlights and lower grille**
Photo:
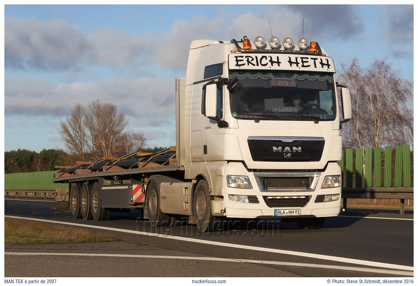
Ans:
{"type": "MultiPolygon", "coordinates": [[[[268,174],[268,172],[265,172],[268,174]]],[[[301,172],[299,172],[301,173],[301,172]]],[[[341,187],[321,188],[321,183],[326,175],[341,175],[341,168],[335,162],[329,163],[323,172],[316,172],[318,176],[316,183],[306,190],[263,190],[260,180],[257,180],[257,173],[248,172],[240,162],[230,162],[224,168],[224,210],[225,215],[230,218],[259,218],[274,217],[274,210],[300,209],[302,217],[329,217],[336,216],[341,209],[341,187]],[[250,178],[252,189],[239,189],[227,187],[226,175],[245,175],[250,178]],[[229,195],[256,196],[258,203],[233,202],[229,195]],[[339,200],[332,202],[315,202],[319,195],[339,194],[339,200]],[[265,196],[306,196],[308,202],[303,207],[269,207],[265,196]]],[[[279,217],[278,217],[279,218],[279,217]]],[[[280,218],[283,218],[281,216],[280,218]]],[[[293,217],[297,218],[297,217],[293,217]]]]}

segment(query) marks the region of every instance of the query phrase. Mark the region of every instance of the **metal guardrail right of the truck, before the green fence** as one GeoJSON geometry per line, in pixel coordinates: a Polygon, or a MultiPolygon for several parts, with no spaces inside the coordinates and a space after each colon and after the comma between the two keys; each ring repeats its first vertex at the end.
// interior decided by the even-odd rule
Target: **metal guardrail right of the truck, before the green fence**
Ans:
{"type": "Polygon", "coordinates": [[[400,199],[400,214],[405,214],[405,199],[413,200],[414,188],[342,188],[343,209],[347,199],[400,199]]]}

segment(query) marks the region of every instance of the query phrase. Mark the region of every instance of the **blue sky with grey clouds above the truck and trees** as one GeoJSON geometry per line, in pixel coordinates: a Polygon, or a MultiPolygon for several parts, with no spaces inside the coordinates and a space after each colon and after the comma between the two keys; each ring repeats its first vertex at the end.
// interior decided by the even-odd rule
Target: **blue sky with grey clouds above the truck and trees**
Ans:
{"type": "Polygon", "coordinates": [[[413,5],[5,5],[5,151],[63,148],[74,103],[124,111],[148,146],[175,145],[175,78],[192,40],[303,36],[413,81],[413,5]]]}

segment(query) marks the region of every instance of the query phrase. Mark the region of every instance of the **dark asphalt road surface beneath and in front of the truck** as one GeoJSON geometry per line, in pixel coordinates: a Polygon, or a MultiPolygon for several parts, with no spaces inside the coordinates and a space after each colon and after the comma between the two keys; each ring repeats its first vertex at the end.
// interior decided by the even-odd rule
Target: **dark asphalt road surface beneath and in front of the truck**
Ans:
{"type": "MultiPolygon", "coordinates": [[[[161,261],[163,258],[151,257],[158,256],[161,250],[164,250],[165,255],[176,251],[173,256],[206,257],[209,261],[202,262],[199,260],[201,258],[193,258],[203,263],[203,266],[196,268],[200,271],[196,274],[200,273],[201,276],[406,276],[408,273],[397,271],[408,271],[410,269],[403,266],[413,266],[413,211],[399,215],[398,210],[376,212],[375,209],[348,209],[338,217],[327,218],[324,227],[319,230],[301,230],[295,223],[263,220],[257,230],[241,230],[232,223],[224,223],[224,229],[219,233],[201,234],[194,225],[151,228],[147,221],[142,220],[140,210],[131,210],[130,213],[112,213],[111,220],[96,222],[74,220],[71,213],[55,214],[54,207],[54,202],[50,201],[5,199],[5,215],[105,227],[107,229],[96,228],[95,230],[111,233],[126,243],[152,245],[153,251],[147,252],[150,257],[141,258],[142,260],[150,260],[154,263],[161,261]],[[222,259],[224,261],[221,261],[222,259]],[[236,269],[245,268],[235,264],[243,262],[228,262],[225,259],[238,259],[244,262],[253,260],[255,262],[250,265],[257,265],[257,268],[253,271],[246,270],[237,273],[236,269]],[[273,265],[272,261],[280,263],[273,265]],[[380,263],[390,265],[385,266],[380,263]],[[219,268],[220,265],[231,265],[231,267],[219,268]],[[214,274],[202,272],[202,269],[207,268],[214,269],[210,272],[214,274]],[[222,269],[222,271],[215,271],[215,269],[222,269]]],[[[133,248],[136,249],[136,246],[133,248]]],[[[5,246],[5,252],[10,251],[9,246],[5,246]]],[[[13,251],[25,252],[27,250],[15,246],[13,251]]],[[[65,253],[65,250],[60,250],[60,252],[65,253]]],[[[70,256],[72,252],[74,250],[69,253],[67,251],[65,256],[56,255],[49,259],[56,261],[69,259],[81,261],[81,263],[92,259],[88,256],[79,258],[70,256]]],[[[106,249],[100,253],[109,261],[118,261],[118,265],[123,261],[132,265],[132,259],[134,259],[133,257],[106,256],[109,253],[106,249]]],[[[13,264],[13,261],[17,263],[16,259],[19,257],[48,261],[45,256],[33,258],[31,255],[28,257],[6,255],[5,271],[8,263],[13,264]]],[[[194,276],[191,275],[194,273],[185,273],[181,270],[184,269],[185,263],[190,263],[188,259],[177,259],[176,262],[170,263],[171,271],[167,272],[165,269],[165,275],[155,274],[154,276],[194,276]]],[[[247,265],[246,263],[244,264],[247,265]]],[[[152,264],[147,263],[147,265],[152,264]]],[[[110,272],[97,276],[106,276],[106,274],[111,276],[110,272]]],[[[59,273],[56,276],[65,275],[59,273]]],[[[68,276],[74,275],[68,274],[68,276]]],[[[84,276],[91,275],[85,273],[84,276]]]]}

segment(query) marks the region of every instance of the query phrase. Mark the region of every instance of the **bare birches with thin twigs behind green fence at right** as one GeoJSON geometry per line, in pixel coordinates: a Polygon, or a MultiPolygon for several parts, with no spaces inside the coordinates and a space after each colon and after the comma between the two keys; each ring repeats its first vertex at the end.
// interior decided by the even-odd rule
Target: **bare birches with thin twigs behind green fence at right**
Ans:
{"type": "Polygon", "coordinates": [[[357,58],[342,64],[338,81],[350,89],[352,119],[343,125],[347,147],[409,144],[413,141],[413,85],[387,62],[361,68],[357,58]]]}

